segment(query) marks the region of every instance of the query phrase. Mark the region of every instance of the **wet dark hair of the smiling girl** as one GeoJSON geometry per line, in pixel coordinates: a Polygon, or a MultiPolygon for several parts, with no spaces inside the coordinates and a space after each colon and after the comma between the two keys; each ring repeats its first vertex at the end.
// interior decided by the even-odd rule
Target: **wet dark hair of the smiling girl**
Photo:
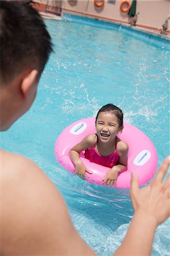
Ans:
{"type": "Polygon", "coordinates": [[[119,128],[120,127],[123,128],[123,112],[117,106],[115,106],[111,103],[107,104],[105,106],[102,106],[102,108],[98,110],[98,113],[96,115],[96,122],[97,122],[98,115],[101,112],[112,112],[112,114],[114,114],[118,118],[119,128]]]}

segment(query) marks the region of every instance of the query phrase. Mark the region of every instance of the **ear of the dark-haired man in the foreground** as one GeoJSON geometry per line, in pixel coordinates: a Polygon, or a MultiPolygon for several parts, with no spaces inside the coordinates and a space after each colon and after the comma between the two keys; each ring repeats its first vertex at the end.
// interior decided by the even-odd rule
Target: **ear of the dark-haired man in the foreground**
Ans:
{"type": "Polygon", "coordinates": [[[31,71],[28,71],[24,76],[20,89],[22,90],[22,94],[25,98],[27,98],[28,92],[31,89],[32,85],[34,85],[37,74],[38,71],[36,69],[33,69],[31,71]]]}

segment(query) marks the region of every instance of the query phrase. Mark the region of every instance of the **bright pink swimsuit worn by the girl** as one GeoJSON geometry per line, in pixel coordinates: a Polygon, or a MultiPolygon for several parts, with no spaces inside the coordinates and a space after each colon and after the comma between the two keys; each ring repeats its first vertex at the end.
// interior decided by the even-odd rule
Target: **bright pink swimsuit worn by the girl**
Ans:
{"type": "MultiPolygon", "coordinates": [[[[98,139],[97,139],[97,142],[98,142],[98,139]]],[[[101,166],[106,166],[106,167],[109,167],[109,168],[112,168],[113,166],[115,166],[118,161],[119,161],[119,154],[118,154],[118,151],[117,151],[117,143],[116,143],[116,140],[115,140],[115,151],[111,154],[111,155],[106,155],[106,156],[103,156],[103,155],[100,155],[95,147],[97,145],[97,142],[94,144],[94,146],[92,148],[87,148],[85,150],[85,158],[86,159],[89,159],[90,162],[92,163],[97,163],[97,164],[101,164],[101,166]]]]}

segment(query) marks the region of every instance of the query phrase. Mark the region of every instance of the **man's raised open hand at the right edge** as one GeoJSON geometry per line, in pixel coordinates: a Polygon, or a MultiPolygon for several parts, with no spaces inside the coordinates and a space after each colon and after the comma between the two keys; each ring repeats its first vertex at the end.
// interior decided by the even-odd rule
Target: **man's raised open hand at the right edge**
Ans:
{"type": "Polygon", "coordinates": [[[165,221],[170,215],[170,174],[163,182],[169,165],[170,156],[165,158],[151,184],[142,189],[139,189],[137,175],[135,173],[131,175],[132,206],[135,212],[143,212],[151,216],[156,221],[156,225],[165,221]]]}

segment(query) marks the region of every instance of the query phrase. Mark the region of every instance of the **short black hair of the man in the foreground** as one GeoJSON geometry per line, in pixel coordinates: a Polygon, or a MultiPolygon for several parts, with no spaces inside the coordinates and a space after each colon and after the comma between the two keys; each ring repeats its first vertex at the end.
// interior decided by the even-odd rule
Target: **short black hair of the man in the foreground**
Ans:
{"type": "Polygon", "coordinates": [[[0,1],[1,81],[11,81],[27,68],[40,77],[52,52],[51,36],[32,1],[0,1]]]}

